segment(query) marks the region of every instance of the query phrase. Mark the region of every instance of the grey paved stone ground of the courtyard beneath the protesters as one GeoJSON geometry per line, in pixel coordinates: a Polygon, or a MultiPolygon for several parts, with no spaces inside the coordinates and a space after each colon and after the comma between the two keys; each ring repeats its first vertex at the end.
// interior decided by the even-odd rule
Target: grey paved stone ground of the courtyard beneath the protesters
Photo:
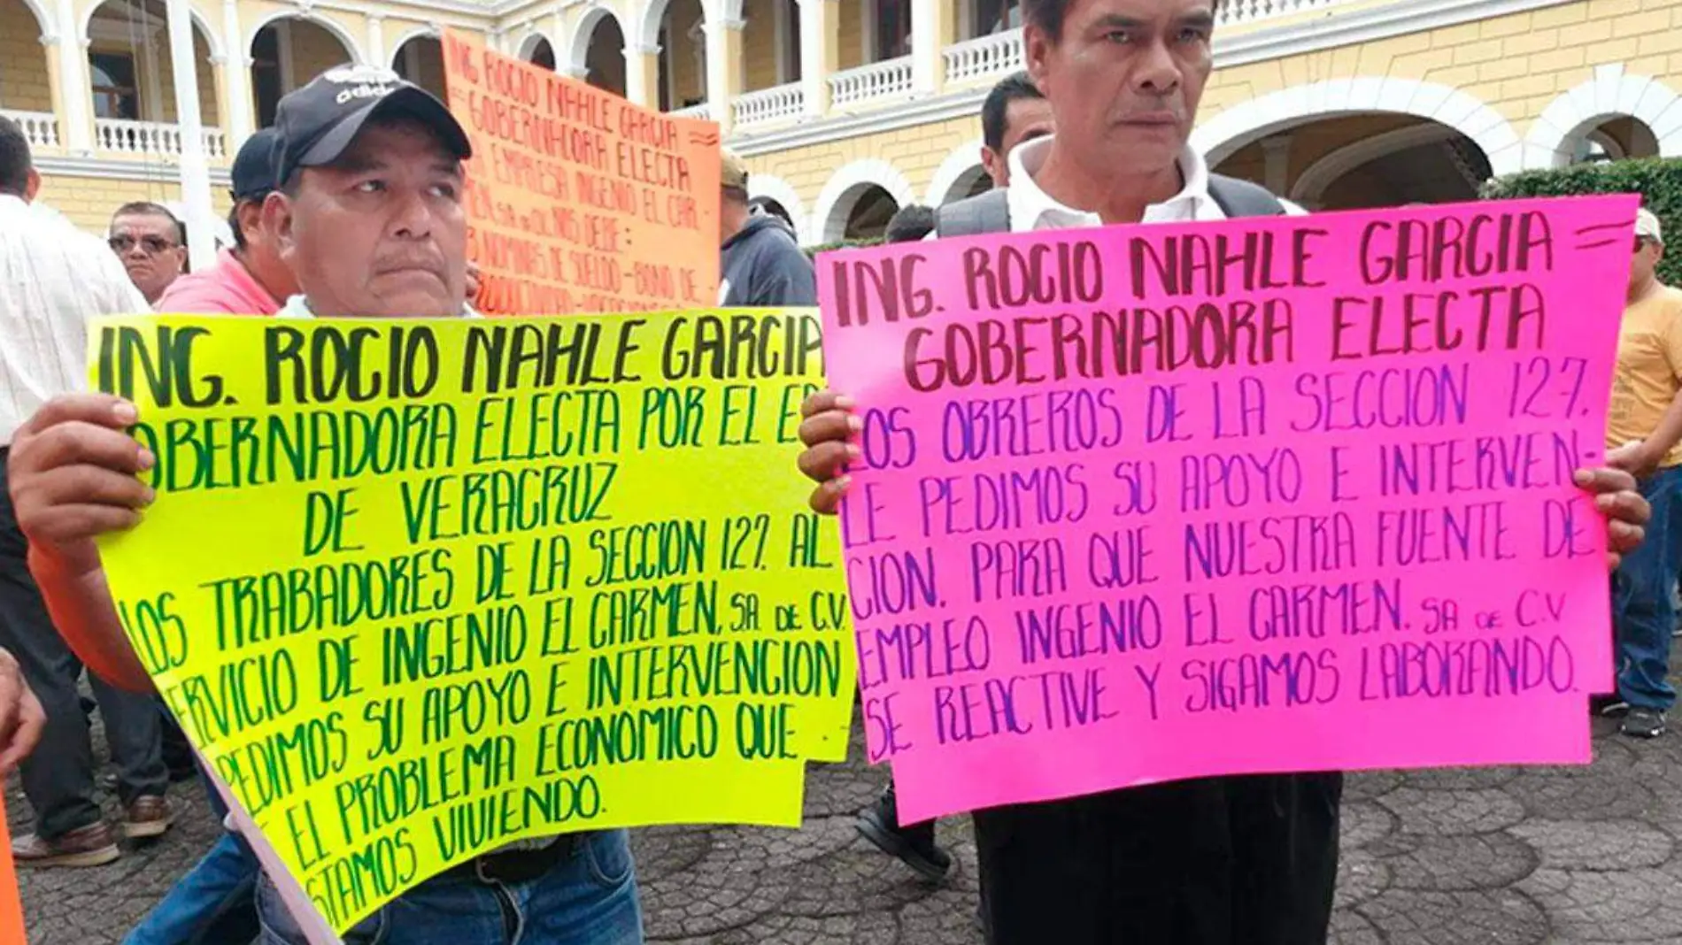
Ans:
{"type": "MultiPolygon", "coordinates": [[[[1682,943],[1682,733],[1633,743],[1600,720],[1595,731],[1583,768],[1352,777],[1332,942],[1682,943]]],[[[923,886],[853,831],[880,787],[858,755],[814,767],[801,831],[639,831],[649,940],[979,943],[967,824],[942,824],[955,883],[923,886]]],[[[99,869],[24,873],[30,945],[119,942],[214,836],[197,792],[178,787],[187,810],[158,844],[99,869]]],[[[27,831],[15,779],[7,805],[12,831],[27,831]]]]}

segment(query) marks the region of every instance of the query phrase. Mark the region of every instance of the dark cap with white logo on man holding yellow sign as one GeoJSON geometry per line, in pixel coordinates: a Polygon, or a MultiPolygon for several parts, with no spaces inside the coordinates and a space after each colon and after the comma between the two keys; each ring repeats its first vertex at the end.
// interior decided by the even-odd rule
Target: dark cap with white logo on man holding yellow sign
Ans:
{"type": "Polygon", "coordinates": [[[378,66],[335,66],[288,92],[274,113],[281,136],[276,183],[298,168],[330,165],[370,118],[404,114],[431,128],[456,158],[473,156],[468,133],[432,92],[378,66]]]}

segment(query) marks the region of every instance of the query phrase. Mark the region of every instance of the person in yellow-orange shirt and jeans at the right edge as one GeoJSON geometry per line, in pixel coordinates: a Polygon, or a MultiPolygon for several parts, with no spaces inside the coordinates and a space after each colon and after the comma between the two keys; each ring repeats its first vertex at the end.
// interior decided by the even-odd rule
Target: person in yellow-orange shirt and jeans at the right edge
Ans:
{"type": "Polygon", "coordinates": [[[1620,731],[1657,738],[1675,705],[1670,639],[1677,567],[1682,563],[1682,289],[1658,281],[1665,242],[1658,217],[1635,217],[1628,304],[1618,331],[1618,365],[1606,412],[1606,462],[1633,472],[1652,504],[1647,541],[1630,552],[1611,583],[1618,641],[1620,731]]]}

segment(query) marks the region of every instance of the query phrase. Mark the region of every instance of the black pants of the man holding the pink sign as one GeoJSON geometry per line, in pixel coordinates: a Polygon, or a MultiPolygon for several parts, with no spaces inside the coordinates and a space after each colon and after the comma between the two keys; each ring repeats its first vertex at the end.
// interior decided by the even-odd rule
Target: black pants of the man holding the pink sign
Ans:
{"type": "Polygon", "coordinates": [[[1324,945],[1341,773],[976,810],[992,945],[1324,945]]]}

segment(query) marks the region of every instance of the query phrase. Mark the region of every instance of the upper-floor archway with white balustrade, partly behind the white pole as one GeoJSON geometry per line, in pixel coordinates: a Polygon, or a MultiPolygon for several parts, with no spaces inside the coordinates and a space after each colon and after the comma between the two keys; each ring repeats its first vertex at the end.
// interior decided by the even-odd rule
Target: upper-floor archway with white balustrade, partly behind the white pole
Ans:
{"type": "MultiPolygon", "coordinates": [[[[180,153],[175,59],[161,0],[108,0],[87,20],[87,77],[94,146],[106,151],[180,153]]],[[[198,121],[212,156],[220,156],[220,114],[210,42],[193,20],[198,121]]]]}

